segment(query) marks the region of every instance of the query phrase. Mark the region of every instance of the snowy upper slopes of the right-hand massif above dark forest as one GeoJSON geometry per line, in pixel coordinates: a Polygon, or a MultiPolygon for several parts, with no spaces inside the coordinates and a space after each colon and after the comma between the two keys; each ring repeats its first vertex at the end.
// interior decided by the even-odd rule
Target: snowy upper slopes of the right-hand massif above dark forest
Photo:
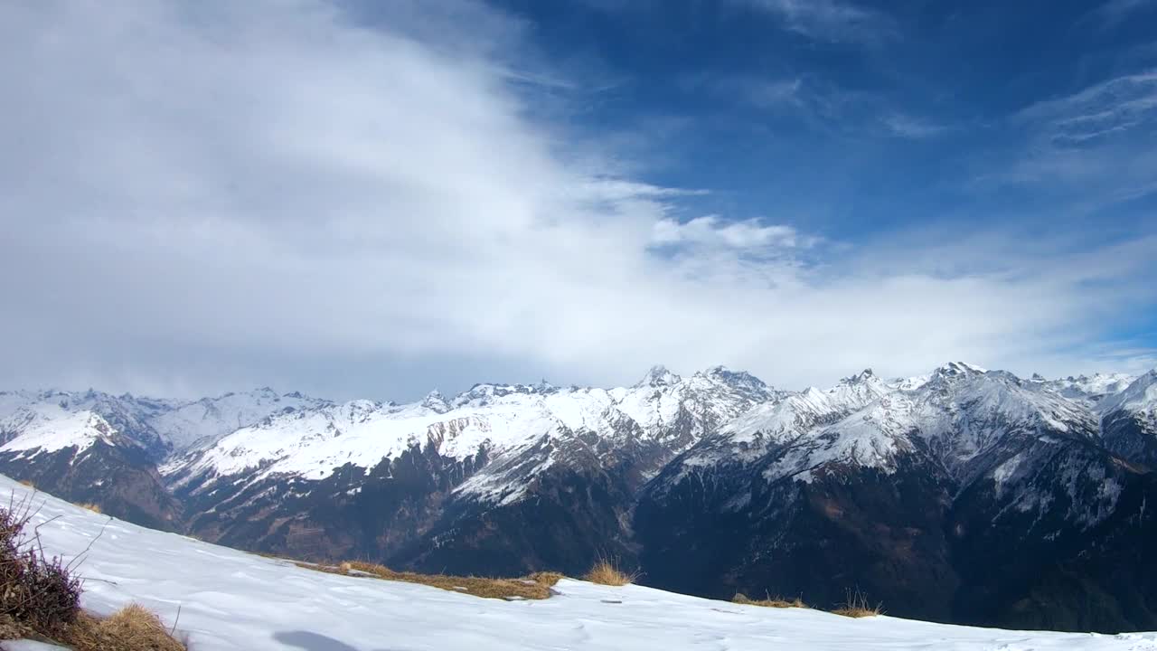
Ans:
{"type": "MultiPolygon", "coordinates": [[[[953,475],[967,481],[983,456],[1010,439],[1052,433],[1093,439],[1093,414],[1083,404],[1009,373],[952,363],[907,381],[884,382],[871,371],[834,388],[809,388],[761,403],[695,446],[685,468],[756,461],[775,453],[769,481],[809,481],[827,465],[894,469],[900,452],[922,439],[953,475]]],[[[683,476],[676,475],[672,480],[683,476]]]]}

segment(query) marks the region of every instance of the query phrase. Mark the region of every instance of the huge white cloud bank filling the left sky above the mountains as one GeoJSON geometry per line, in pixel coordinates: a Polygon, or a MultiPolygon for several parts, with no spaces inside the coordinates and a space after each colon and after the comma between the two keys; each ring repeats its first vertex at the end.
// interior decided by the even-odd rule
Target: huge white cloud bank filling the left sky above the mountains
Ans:
{"type": "Polygon", "coordinates": [[[1061,254],[942,275],[920,247],[677,220],[700,190],[570,162],[590,145],[528,117],[517,24],[423,7],[364,28],[311,0],[0,6],[0,383],[406,398],[655,361],[784,386],[1047,370],[1088,361],[1117,305],[1049,275],[1061,254]]]}

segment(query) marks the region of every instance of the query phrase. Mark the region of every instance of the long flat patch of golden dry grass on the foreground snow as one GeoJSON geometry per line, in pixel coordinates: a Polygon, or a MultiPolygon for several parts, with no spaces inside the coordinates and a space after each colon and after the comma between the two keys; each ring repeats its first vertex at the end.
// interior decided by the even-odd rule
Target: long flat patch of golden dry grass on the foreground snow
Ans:
{"type": "Polygon", "coordinates": [[[486,599],[546,599],[551,595],[551,586],[562,578],[562,575],[558,572],[535,572],[524,579],[420,575],[418,572],[397,572],[385,565],[364,561],[346,561],[337,566],[310,563],[296,563],[296,565],[336,575],[415,583],[486,599]]]}

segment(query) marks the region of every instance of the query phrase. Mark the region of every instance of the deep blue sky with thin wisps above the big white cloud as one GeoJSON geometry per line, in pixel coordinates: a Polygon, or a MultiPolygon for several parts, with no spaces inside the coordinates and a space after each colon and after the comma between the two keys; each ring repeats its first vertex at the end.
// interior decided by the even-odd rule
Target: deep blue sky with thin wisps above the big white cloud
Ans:
{"type": "Polygon", "coordinates": [[[1152,71],[1152,2],[499,6],[572,75],[565,119],[627,140],[653,183],[709,189],[692,210],[853,240],[1011,221],[1088,243],[1152,226],[1151,161],[1129,168],[1154,109],[1122,104],[1151,101],[1154,80],[1075,101],[1152,71]],[[1105,110],[1066,138],[1064,119],[1105,110]],[[1049,169],[1051,154],[1081,160],[1049,169]]]}

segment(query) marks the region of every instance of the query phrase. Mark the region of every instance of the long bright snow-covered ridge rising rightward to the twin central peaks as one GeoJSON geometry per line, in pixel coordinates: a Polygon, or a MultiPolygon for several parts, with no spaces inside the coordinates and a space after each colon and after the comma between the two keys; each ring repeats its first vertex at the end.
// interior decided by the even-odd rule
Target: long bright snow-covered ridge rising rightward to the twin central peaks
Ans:
{"type": "MultiPolygon", "coordinates": [[[[369,469],[411,449],[432,447],[440,456],[457,461],[480,452],[491,459],[513,459],[576,434],[606,440],[633,437],[662,442],[677,453],[774,395],[751,375],[723,367],[688,378],[655,367],[636,385],[613,389],[546,382],[476,385],[452,400],[430,394],[411,404],[351,401],[283,410],[213,446],[174,458],[161,470],[179,475],[178,485],[235,475],[320,481],[346,465],[369,469]],[[251,473],[255,469],[259,470],[251,473]]],[[[528,473],[502,474],[515,483],[525,482],[551,462],[544,458],[528,465],[533,468],[528,473]]],[[[501,466],[495,463],[495,469],[501,466]]],[[[459,490],[495,500],[518,493],[518,485],[493,480],[482,473],[459,490]]]]}

